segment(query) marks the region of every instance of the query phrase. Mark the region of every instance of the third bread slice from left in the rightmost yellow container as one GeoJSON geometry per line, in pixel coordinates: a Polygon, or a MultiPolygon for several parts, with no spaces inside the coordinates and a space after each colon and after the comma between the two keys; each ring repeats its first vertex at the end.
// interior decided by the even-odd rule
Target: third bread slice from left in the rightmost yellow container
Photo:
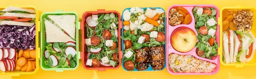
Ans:
{"type": "Polygon", "coordinates": [[[234,36],[234,56],[233,56],[233,63],[236,62],[236,56],[238,54],[238,48],[239,48],[239,45],[240,43],[242,42],[239,42],[239,39],[235,33],[235,31],[233,31],[233,36],[234,36]]]}

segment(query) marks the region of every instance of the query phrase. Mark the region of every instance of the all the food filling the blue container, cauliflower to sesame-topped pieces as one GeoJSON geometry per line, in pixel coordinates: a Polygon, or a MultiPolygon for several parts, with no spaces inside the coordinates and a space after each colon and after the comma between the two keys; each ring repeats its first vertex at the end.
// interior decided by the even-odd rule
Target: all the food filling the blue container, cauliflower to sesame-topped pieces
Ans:
{"type": "Polygon", "coordinates": [[[127,71],[162,70],[165,65],[165,13],[161,8],[133,7],[123,12],[124,67],[127,71]]]}

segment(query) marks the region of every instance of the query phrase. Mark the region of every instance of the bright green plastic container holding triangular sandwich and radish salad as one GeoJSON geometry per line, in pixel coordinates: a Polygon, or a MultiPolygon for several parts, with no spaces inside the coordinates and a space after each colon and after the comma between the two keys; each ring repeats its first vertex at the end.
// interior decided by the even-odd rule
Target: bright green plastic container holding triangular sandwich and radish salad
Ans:
{"type": "Polygon", "coordinates": [[[56,72],[63,72],[64,70],[75,70],[76,68],[78,68],[79,66],[79,59],[80,59],[80,50],[79,50],[79,29],[80,29],[80,22],[78,19],[78,14],[76,14],[76,12],[73,11],[62,11],[62,10],[56,10],[56,12],[44,12],[41,15],[41,31],[40,31],[40,35],[41,35],[41,59],[40,59],[40,65],[41,68],[45,71],[56,71],[56,72]],[[44,51],[46,50],[45,46],[47,46],[47,42],[46,42],[46,32],[45,32],[45,25],[44,25],[44,18],[47,17],[48,14],[75,14],[76,15],[76,67],[75,68],[50,68],[44,65],[44,51]]]}

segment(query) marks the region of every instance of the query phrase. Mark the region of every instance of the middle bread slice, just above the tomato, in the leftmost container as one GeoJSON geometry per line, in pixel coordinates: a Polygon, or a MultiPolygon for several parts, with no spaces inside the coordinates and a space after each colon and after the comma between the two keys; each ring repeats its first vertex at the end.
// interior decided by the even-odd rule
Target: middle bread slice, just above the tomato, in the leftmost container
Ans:
{"type": "Polygon", "coordinates": [[[35,14],[24,14],[24,13],[10,13],[6,12],[3,16],[13,16],[13,17],[21,17],[21,18],[35,18],[35,14]]]}

